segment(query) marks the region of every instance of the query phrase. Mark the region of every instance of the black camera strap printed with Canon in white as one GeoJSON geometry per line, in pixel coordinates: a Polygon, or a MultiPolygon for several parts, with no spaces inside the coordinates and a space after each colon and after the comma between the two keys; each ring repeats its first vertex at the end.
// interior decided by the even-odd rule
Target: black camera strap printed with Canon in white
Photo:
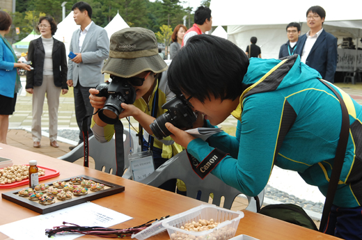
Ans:
{"type": "Polygon", "coordinates": [[[217,164],[226,157],[226,155],[228,155],[228,153],[215,148],[207,155],[207,157],[205,157],[205,159],[203,159],[203,161],[199,163],[194,156],[187,152],[187,157],[189,157],[192,170],[194,170],[201,179],[204,179],[212,171],[212,169],[214,169],[217,164]]]}

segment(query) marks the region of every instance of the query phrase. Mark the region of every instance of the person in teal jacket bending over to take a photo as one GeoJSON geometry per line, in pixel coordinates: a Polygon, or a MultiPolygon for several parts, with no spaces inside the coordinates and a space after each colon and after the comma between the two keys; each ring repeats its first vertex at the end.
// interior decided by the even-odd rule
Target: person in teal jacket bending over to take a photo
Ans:
{"type": "MultiPolygon", "coordinates": [[[[166,127],[175,143],[200,162],[227,153],[217,155],[222,159],[211,173],[246,195],[258,195],[265,188],[274,165],[297,171],[326,195],[342,113],[338,98],[320,78],[297,54],[281,60],[251,58],[249,63],[232,42],[197,35],[173,58],[168,86],[204,115],[204,127],[233,115],[239,120],[236,136],[221,132],[203,141],[169,122],[166,127]]],[[[350,132],[325,232],[361,239],[362,106],[327,84],[344,99],[350,132]]]]}

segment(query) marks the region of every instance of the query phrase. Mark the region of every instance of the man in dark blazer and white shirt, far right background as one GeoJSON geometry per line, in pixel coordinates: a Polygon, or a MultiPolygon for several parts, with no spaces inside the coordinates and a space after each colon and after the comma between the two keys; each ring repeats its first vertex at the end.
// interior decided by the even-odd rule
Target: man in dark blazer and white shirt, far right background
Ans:
{"type": "Polygon", "coordinates": [[[337,38],[322,27],[326,17],[322,7],[310,7],[306,15],[310,31],[299,38],[296,53],[301,56],[301,62],[320,72],[322,79],[333,83],[337,66],[337,38]]]}

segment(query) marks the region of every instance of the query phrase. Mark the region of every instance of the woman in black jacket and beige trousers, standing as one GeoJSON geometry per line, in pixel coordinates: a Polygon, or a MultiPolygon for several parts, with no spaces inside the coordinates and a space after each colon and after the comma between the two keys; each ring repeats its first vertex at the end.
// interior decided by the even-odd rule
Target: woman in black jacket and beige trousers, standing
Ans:
{"type": "Polygon", "coordinates": [[[26,73],[26,92],[33,94],[33,147],[40,147],[45,93],[48,100],[50,145],[59,147],[56,142],[59,97],[61,92],[68,93],[65,45],[53,38],[57,29],[53,17],[40,17],[37,29],[41,37],[30,42],[28,51],[28,60],[32,62],[34,71],[26,73]]]}

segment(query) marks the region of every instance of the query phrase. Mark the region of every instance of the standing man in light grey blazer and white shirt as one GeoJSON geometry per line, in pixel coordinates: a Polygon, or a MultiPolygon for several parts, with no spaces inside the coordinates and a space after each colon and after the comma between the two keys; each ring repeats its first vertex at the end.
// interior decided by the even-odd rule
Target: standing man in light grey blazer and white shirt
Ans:
{"type": "MultiPolygon", "coordinates": [[[[74,22],[81,27],[74,31],[70,42],[70,51],[76,56],[68,61],[67,83],[74,87],[75,117],[80,131],[80,144],[84,141],[82,120],[84,116],[93,113],[93,106],[89,102],[89,89],[104,82],[100,70],[109,55],[109,38],[107,31],[92,21],[92,8],[88,3],[79,1],[72,6],[72,10],[74,22]]],[[[88,136],[91,136],[91,118],[88,118],[87,124],[88,136]]],[[[69,148],[72,150],[74,146],[69,148]]]]}

